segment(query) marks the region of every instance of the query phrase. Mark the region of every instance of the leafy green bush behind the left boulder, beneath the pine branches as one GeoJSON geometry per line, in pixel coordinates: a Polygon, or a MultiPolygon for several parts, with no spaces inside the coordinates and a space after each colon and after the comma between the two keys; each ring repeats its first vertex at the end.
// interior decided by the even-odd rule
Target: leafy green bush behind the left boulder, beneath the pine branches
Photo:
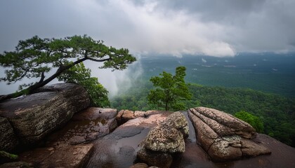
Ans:
{"type": "Polygon", "coordinates": [[[58,80],[82,85],[89,93],[92,106],[110,106],[107,90],[98,82],[98,78],[91,77],[91,70],[86,69],[82,62],[64,71],[58,80]]]}

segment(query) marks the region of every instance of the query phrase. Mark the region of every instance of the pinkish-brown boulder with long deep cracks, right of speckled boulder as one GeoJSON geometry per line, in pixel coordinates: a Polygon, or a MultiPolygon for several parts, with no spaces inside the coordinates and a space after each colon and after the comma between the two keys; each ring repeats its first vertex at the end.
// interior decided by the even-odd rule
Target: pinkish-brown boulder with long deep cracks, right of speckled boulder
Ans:
{"type": "Polygon", "coordinates": [[[251,125],[223,111],[197,107],[188,111],[197,141],[212,160],[235,160],[243,156],[269,154],[268,148],[251,139],[256,132],[251,125]]]}

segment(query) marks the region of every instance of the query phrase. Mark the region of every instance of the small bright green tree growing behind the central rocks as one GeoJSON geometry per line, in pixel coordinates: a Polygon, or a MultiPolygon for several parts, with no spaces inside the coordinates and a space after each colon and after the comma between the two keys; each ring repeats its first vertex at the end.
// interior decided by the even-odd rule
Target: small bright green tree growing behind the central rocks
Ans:
{"type": "Polygon", "coordinates": [[[177,67],[175,76],[165,71],[160,73],[159,76],[150,78],[156,88],[150,90],[147,95],[148,102],[157,105],[158,108],[164,107],[166,111],[184,109],[185,106],[181,101],[192,97],[184,80],[185,67],[177,67]]]}

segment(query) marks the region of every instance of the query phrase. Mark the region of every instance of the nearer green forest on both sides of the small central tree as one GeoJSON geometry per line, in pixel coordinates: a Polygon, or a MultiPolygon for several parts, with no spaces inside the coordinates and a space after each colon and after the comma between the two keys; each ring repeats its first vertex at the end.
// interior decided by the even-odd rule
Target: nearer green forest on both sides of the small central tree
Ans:
{"type": "MultiPolygon", "coordinates": [[[[147,111],[157,109],[147,104],[147,93],[152,88],[147,80],[136,82],[129,90],[111,99],[113,108],[147,111]]],[[[247,111],[263,120],[264,131],[285,144],[295,146],[295,99],[278,94],[226,87],[190,84],[193,97],[185,101],[186,109],[206,106],[234,114],[247,111]]],[[[183,109],[183,110],[186,110],[183,109]]]]}

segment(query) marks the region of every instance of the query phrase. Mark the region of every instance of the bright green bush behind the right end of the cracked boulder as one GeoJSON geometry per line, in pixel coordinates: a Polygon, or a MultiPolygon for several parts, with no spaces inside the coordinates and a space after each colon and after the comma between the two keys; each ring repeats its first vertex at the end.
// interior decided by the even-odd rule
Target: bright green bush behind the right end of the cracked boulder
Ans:
{"type": "Polygon", "coordinates": [[[256,132],[263,133],[263,121],[258,116],[254,116],[246,111],[240,111],[235,113],[235,117],[249,123],[252,127],[254,127],[256,132]]]}

